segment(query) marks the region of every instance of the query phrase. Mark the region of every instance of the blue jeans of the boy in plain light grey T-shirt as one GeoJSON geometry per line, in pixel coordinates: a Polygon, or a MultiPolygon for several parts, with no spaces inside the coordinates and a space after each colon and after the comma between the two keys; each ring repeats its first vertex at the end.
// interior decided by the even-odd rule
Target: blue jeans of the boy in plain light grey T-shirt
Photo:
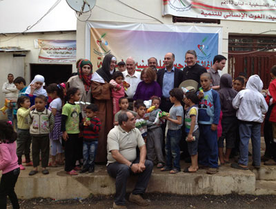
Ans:
{"type": "Polygon", "coordinates": [[[179,130],[168,130],[166,137],[166,167],[176,168],[180,170],[180,148],[179,142],[181,140],[181,129],[179,130]]]}

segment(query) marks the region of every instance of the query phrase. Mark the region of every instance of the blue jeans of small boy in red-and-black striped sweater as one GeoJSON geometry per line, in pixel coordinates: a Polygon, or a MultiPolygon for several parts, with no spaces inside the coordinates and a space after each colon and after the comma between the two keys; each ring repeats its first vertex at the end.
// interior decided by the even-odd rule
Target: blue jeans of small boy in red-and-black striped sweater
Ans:
{"type": "Polygon", "coordinates": [[[91,168],[95,166],[98,141],[83,141],[83,167],[91,168]]]}

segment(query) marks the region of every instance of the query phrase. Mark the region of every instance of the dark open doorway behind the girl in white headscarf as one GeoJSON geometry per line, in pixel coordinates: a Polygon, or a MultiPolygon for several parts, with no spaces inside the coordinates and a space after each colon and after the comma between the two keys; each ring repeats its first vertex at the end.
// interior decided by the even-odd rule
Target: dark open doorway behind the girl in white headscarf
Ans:
{"type": "Polygon", "coordinates": [[[30,64],[30,81],[36,74],[45,78],[46,86],[50,83],[65,83],[71,77],[72,65],[30,64]]]}

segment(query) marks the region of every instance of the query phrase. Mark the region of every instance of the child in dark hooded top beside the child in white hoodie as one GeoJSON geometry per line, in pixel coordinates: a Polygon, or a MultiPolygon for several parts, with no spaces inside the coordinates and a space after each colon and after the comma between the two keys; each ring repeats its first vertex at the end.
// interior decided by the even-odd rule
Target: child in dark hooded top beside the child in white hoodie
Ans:
{"type": "Polygon", "coordinates": [[[220,78],[219,98],[221,111],[222,134],[219,137],[219,161],[221,165],[229,163],[231,150],[235,148],[237,117],[236,110],[232,106],[232,101],[236,97],[237,91],[232,88],[232,77],[230,74],[223,74],[220,78]],[[226,152],[224,155],[224,139],[226,139],[226,152]]]}

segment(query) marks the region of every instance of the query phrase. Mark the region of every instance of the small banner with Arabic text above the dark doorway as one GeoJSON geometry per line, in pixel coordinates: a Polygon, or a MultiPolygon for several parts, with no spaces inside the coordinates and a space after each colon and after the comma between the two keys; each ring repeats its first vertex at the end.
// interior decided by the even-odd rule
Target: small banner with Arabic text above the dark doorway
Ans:
{"type": "Polygon", "coordinates": [[[75,40],[45,40],[39,39],[39,62],[75,62],[75,40]]]}

